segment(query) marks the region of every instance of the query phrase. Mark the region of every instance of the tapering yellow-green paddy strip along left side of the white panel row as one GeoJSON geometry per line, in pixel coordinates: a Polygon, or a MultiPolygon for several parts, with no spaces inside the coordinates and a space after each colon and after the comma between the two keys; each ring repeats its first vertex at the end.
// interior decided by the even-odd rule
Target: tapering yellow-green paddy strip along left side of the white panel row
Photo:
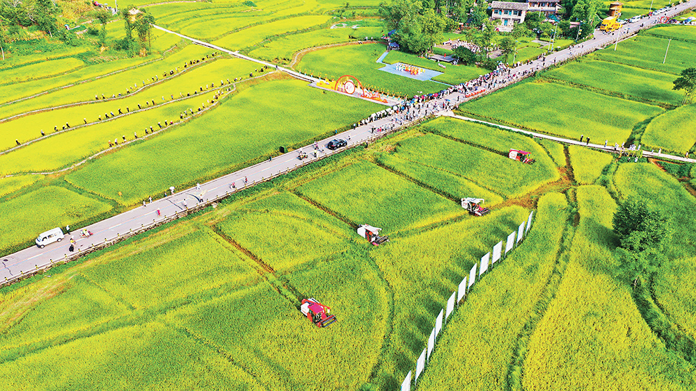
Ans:
{"type": "Polygon", "coordinates": [[[435,317],[445,308],[461,278],[528,215],[528,210],[519,206],[503,208],[484,217],[392,238],[387,246],[370,252],[393,288],[395,308],[393,331],[384,342],[376,385],[398,389],[404,376],[416,366],[435,317]]]}

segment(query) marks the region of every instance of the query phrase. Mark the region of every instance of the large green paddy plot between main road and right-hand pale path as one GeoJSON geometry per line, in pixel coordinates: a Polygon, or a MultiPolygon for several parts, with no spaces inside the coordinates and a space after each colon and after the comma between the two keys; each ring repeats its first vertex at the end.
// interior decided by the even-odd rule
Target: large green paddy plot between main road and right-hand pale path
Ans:
{"type": "Polygon", "coordinates": [[[459,106],[459,110],[540,133],[622,144],[633,126],[663,112],[657,106],[606,97],[555,83],[521,83],[459,106]]]}

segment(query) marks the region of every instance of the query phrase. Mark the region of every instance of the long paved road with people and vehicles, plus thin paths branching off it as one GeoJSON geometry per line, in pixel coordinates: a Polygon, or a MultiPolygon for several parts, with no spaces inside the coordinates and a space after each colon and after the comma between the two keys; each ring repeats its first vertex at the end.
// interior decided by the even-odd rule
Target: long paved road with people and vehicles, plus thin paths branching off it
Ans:
{"type": "MultiPolygon", "coordinates": [[[[683,10],[685,8],[693,8],[694,6],[696,6],[696,0],[692,0],[688,3],[681,4],[675,7],[677,8],[677,10],[674,10],[673,8],[672,13],[676,13],[679,10],[683,10]]],[[[646,24],[647,28],[647,26],[649,26],[649,21],[646,21],[644,19],[643,22],[646,24]]],[[[640,24],[633,24],[631,26],[628,26],[627,30],[630,28],[630,30],[628,31],[635,31],[639,27],[640,24]]],[[[585,42],[580,49],[584,49],[583,51],[589,51],[594,49],[595,47],[599,47],[603,44],[613,42],[613,40],[615,39],[616,35],[612,37],[611,35],[604,35],[600,33],[599,36],[596,35],[596,38],[594,40],[585,42]]],[[[203,44],[205,44],[205,42],[203,42],[203,44]]],[[[226,53],[230,53],[230,51],[227,51],[223,48],[214,47],[208,44],[207,46],[213,47],[214,49],[219,49],[221,51],[225,51],[226,53]]],[[[262,63],[265,65],[265,63],[263,63],[262,61],[247,58],[246,56],[239,55],[239,53],[232,54],[237,57],[253,60],[257,63],[262,63]]],[[[559,51],[548,56],[546,58],[545,65],[549,66],[553,64],[553,58],[556,58],[557,61],[562,61],[574,56],[578,56],[577,50],[575,52],[571,49],[559,51]],[[549,61],[550,59],[551,61],[549,61]]],[[[538,67],[544,67],[544,63],[542,63],[541,61],[535,61],[528,65],[516,67],[512,72],[519,74],[522,73],[524,70],[533,70],[537,69],[538,67]]],[[[296,74],[296,72],[290,69],[283,69],[283,72],[287,72],[303,80],[314,81],[311,78],[308,78],[308,76],[296,74]]],[[[509,76],[498,76],[497,78],[491,78],[491,80],[488,83],[496,83],[495,88],[502,88],[503,86],[509,85],[510,83],[514,83],[516,81],[519,81],[519,77],[512,78],[509,76]],[[505,80],[506,78],[507,81],[505,80]]],[[[388,115],[387,117],[374,120],[362,126],[358,126],[355,129],[351,129],[350,131],[342,132],[336,135],[335,138],[342,138],[344,140],[348,140],[348,147],[354,146],[355,144],[362,144],[365,141],[374,140],[374,138],[379,137],[381,135],[380,133],[386,133],[386,131],[390,130],[391,128],[409,126],[410,124],[422,117],[427,117],[429,115],[438,113],[441,115],[454,116],[451,113],[452,107],[456,106],[457,103],[466,100],[466,90],[464,90],[464,88],[462,88],[461,86],[459,86],[459,88],[450,88],[450,92],[439,99],[435,99],[426,103],[421,103],[418,106],[412,106],[411,108],[406,110],[405,113],[393,113],[391,115],[388,115]],[[385,131],[374,131],[373,133],[373,128],[383,128],[385,129],[385,131]]],[[[475,121],[474,119],[469,119],[466,117],[461,117],[461,119],[475,121]]],[[[500,125],[496,124],[496,126],[500,125]]],[[[509,128],[506,126],[502,127],[509,128]]],[[[537,137],[548,138],[550,140],[555,140],[558,142],[580,144],[580,142],[577,140],[557,138],[554,136],[544,135],[540,133],[524,131],[518,128],[509,129],[512,131],[519,131],[521,133],[530,133],[537,137]]],[[[63,242],[49,244],[44,249],[40,249],[34,246],[29,247],[28,249],[24,249],[22,251],[18,251],[17,253],[10,254],[9,256],[4,256],[1,259],[2,269],[0,269],[0,283],[4,283],[5,281],[13,281],[16,278],[22,276],[22,274],[26,274],[27,272],[31,272],[37,268],[47,267],[58,260],[65,260],[67,258],[72,259],[76,256],[79,256],[79,253],[87,251],[91,247],[103,246],[105,242],[106,244],[109,244],[113,242],[113,240],[118,240],[118,238],[122,238],[124,235],[129,235],[134,231],[143,230],[148,228],[148,226],[153,226],[155,224],[167,221],[168,219],[171,219],[171,217],[176,213],[185,212],[187,208],[195,208],[196,206],[204,205],[206,203],[214,201],[219,197],[224,197],[226,194],[229,194],[231,192],[244,190],[244,188],[251,186],[254,183],[258,183],[259,181],[264,181],[270,176],[277,176],[279,174],[282,174],[283,172],[295,169],[299,165],[306,164],[308,162],[310,163],[311,161],[328,156],[331,153],[338,153],[342,151],[342,149],[339,149],[337,151],[330,151],[329,149],[326,149],[326,144],[332,139],[333,137],[326,138],[325,140],[318,142],[319,149],[317,150],[315,150],[312,145],[301,148],[302,151],[306,151],[309,154],[308,160],[299,160],[297,158],[298,151],[285,153],[276,158],[273,158],[272,160],[267,160],[257,165],[241,169],[238,172],[222,176],[221,178],[216,178],[207,183],[202,183],[200,184],[200,188],[191,188],[181,190],[178,192],[177,189],[175,189],[174,194],[170,195],[169,197],[152,201],[152,203],[147,203],[146,206],[139,206],[132,210],[128,210],[125,213],[121,213],[120,215],[116,215],[110,217],[109,219],[105,219],[101,222],[92,224],[86,227],[89,231],[93,233],[93,235],[88,238],[80,238],[79,232],[73,232],[72,236],[76,241],[76,249],[73,253],[70,253],[70,251],[68,251],[68,247],[70,246],[70,243],[68,242],[70,235],[68,235],[66,240],[64,240],[63,242]],[[236,188],[231,188],[232,183],[235,183],[236,188]]],[[[611,145],[613,145],[613,143],[611,145]]],[[[604,149],[603,144],[590,144],[590,147],[604,149]]],[[[664,154],[657,155],[656,153],[649,152],[644,153],[644,155],[656,156],[660,158],[669,158],[672,160],[680,160],[683,162],[690,163],[696,162],[696,160],[694,159],[685,159],[680,156],[668,156],[664,154]]],[[[51,227],[46,228],[49,229],[51,227]]]]}

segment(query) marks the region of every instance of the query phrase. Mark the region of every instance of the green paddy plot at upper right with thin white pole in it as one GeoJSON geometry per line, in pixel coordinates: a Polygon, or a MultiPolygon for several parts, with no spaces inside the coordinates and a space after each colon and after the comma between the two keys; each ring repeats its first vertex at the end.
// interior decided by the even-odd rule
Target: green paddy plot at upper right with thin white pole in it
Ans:
{"type": "Polygon", "coordinates": [[[678,40],[672,40],[670,43],[665,38],[646,35],[619,42],[616,51],[613,48],[596,51],[592,57],[675,75],[681,74],[683,69],[696,62],[693,43],[678,40]],[[670,50],[663,64],[667,44],[670,44],[670,50]],[[640,56],[637,53],[640,53],[640,56]]]}

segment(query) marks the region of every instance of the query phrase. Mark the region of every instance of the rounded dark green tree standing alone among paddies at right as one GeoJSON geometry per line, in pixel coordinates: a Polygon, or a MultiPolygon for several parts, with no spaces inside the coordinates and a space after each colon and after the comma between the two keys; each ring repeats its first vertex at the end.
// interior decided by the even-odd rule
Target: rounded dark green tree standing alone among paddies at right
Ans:
{"type": "Polygon", "coordinates": [[[619,238],[619,272],[638,285],[666,260],[663,248],[671,234],[667,218],[643,199],[629,198],[619,205],[613,226],[619,238]]]}

